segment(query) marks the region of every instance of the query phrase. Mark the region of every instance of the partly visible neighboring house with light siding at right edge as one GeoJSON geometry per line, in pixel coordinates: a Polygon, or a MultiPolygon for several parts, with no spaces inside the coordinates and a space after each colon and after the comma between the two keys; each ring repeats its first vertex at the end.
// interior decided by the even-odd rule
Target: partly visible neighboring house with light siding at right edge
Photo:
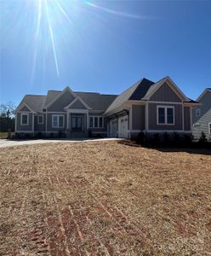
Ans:
{"type": "Polygon", "coordinates": [[[205,89],[197,98],[201,104],[192,110],[192,135],[198,140],[202,132],[211,140],[211,88],[205,89]]]}

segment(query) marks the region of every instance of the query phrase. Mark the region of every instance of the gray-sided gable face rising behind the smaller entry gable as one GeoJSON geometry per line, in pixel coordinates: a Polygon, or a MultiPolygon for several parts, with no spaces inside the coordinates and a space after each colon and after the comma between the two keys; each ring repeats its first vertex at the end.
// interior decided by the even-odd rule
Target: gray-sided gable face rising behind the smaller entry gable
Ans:
{"type": "Polygon", "coordinates": [[[61,96],[59,96],[55,102],[53,102],[49,107],[48,111],[62,112],[64,108],[74,101],[76,97],[73,96],[70,90],[66,90],[61,96]]]}

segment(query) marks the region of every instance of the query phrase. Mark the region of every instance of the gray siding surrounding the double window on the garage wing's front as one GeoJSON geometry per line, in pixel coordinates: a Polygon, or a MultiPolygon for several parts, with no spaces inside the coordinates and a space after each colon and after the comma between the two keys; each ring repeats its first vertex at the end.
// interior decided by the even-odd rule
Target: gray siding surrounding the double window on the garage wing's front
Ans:
{"type": "Polygon", "coordinates": [[[182,105],[149,103],[149,130],[183,130],[182,105]],[[174,125],[157,125],[157,106],[174,106],[174,125]]]}

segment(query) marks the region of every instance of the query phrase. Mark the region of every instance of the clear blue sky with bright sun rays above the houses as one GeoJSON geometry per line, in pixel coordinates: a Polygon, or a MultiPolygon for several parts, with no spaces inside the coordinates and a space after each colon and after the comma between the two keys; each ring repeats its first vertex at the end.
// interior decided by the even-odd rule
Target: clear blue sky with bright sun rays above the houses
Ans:
{"type": "Polygon", "coordinates": [[[0,0],[0,103],[167,75],[196,99],[211,87],[210,14],[211,1],[0,0]]]}

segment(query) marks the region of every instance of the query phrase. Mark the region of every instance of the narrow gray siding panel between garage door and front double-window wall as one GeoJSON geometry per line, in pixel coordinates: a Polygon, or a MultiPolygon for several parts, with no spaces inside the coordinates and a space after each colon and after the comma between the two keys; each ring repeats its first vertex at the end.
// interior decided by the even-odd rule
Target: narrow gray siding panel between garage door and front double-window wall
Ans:
{"type": "Polygon", "coordinates": [[[132,106],[132,130],[145,130],[145,106],[132,106]]]}

